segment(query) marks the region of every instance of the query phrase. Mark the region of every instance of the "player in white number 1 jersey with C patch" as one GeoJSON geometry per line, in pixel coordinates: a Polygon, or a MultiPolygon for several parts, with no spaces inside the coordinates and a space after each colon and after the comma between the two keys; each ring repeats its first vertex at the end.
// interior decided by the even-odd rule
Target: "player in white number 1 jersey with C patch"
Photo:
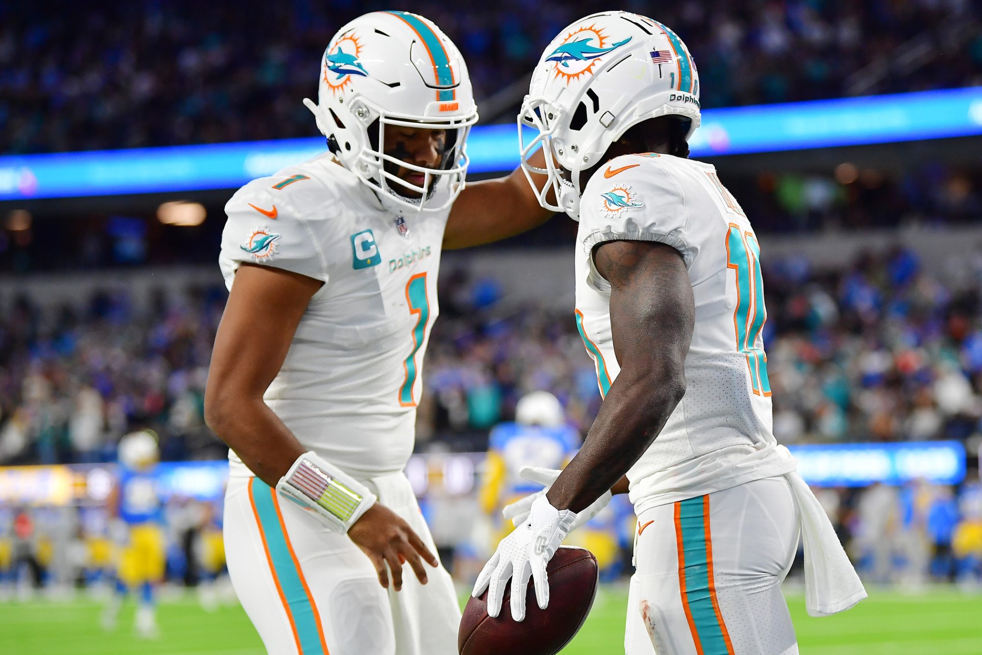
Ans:
{"type": "Polygon", "coordinates": [[[403,473],[440,253],[551,212],[518,170],[464,189],[467,69],[422,17],[339,30],[305,102],[330,151],[226,206],[205,413],[231,447],[229,573],[272,653],[455,653],[454,587],[403,473]]]}

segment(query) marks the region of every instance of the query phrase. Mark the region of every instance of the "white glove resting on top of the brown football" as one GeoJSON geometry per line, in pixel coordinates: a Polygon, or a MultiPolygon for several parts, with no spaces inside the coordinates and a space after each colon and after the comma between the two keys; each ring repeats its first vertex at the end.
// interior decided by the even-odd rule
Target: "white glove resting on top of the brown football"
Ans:
{"type": "Polygon", "coordinates": [[[546,565],[570,533],[570,525],[575,518],[574,511],[561,511],[550,505],[549,499],[544,496],[532,503],[528,520],[501,540],[498,550],[481,569],[474,583],[471,594],[474,598],[488,589],[489,617],[497,617],[501,612],[509,578],[512,578],[513,619],[521,621],[525,618],[525,589],[529,576],[535,586],[535,600],[539,608],[546,609],[549,605],[546,565]]]}

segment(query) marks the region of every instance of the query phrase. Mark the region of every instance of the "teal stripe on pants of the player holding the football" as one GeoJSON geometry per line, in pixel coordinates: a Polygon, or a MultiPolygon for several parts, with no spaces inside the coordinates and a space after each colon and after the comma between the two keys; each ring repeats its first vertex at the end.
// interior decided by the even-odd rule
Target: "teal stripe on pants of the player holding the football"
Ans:
{"type": "Polygon", "coordinates": [[[685,600],[695,624],[703,655],[731,655],[723,628],[716,619],[709,588],[709,560],[706,556],[704,496],[679,503],[679,527],[685,563],[685,600]]]}

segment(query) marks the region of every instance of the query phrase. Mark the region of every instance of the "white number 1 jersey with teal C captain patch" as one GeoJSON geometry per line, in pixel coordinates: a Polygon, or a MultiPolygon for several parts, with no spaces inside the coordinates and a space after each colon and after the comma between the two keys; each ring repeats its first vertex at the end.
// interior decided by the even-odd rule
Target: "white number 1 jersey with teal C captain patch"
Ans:
{"type": "MultiPolygon", "coordinates": [[[[225,211],[219,264],[230,290],[243,263],[324,282],[266,404],[300,444],[356,478],[403,470],[450,210],[386,208],[325,153],[249,182],[225,211]]],[[[233,475],[247,474],[229,457],[233,475]]]]}

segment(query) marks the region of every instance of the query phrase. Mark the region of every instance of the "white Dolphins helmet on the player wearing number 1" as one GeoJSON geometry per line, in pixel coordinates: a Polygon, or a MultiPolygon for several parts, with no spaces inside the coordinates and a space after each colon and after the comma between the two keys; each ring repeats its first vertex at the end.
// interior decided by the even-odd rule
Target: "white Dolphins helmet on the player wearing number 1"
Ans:
{"type": "Polygon", "coordinates": [[[464,145],[477,122],[477,106],[464,58],[433,23],[408,12],[372,12],[346,25],[331,39],[321,61],[319,103],[303,104],[336,156],[383,202],[420,211],[450,207],[464,188],[464,145]],[[447,130],[439,169],[402,161],[382,151],[386,126],[447,130]],[[422,186],[397,177],[402,166],[422,173],[422,186]],[[430,204],[446,180],[448,194],[430,204]],[[410,198],[400,190],[420,195],[410,198]]]}

